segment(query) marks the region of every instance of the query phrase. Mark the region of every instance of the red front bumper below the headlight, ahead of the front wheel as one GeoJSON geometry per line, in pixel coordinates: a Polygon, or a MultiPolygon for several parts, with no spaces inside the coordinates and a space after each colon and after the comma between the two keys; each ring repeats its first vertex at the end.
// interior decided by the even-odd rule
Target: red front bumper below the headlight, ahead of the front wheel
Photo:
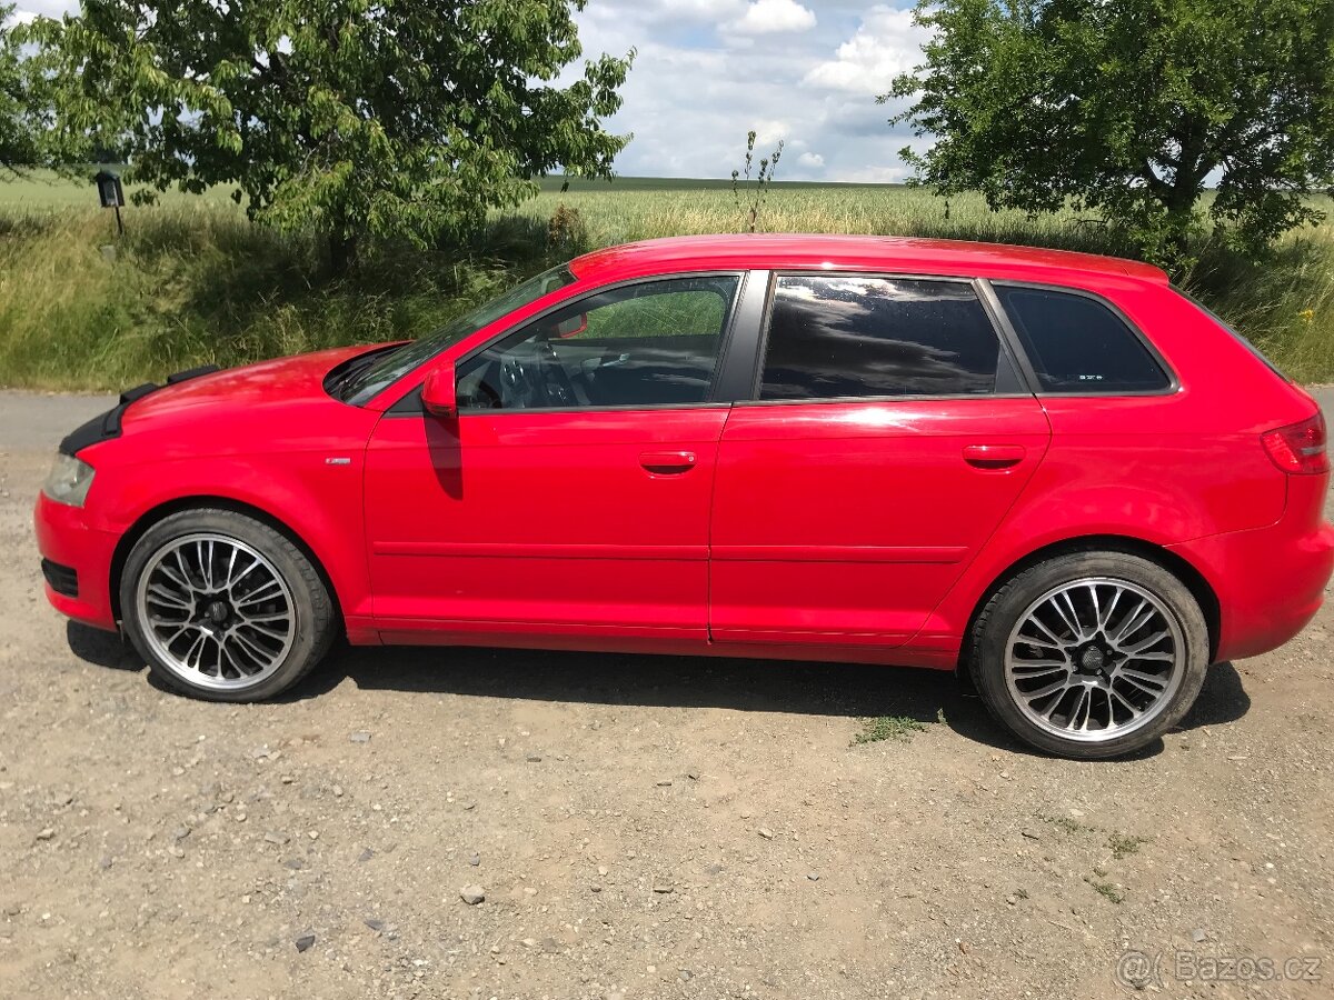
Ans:
{"type": "Polygon", "coordinates": [[[33,524],[41,557],[59,568],[60,589],[76,589],[75,595],[61,593],[48,579],[45,588],[51,607],[96,628],[116,631],[116,616],[111,609],[111,559],[116,551],[116,536],[89,527],[81,508],[57,504],[45,493],[37,496],[33,524]],[[75,588],[63,579],[67,571],[75,573],[75,588]]]}

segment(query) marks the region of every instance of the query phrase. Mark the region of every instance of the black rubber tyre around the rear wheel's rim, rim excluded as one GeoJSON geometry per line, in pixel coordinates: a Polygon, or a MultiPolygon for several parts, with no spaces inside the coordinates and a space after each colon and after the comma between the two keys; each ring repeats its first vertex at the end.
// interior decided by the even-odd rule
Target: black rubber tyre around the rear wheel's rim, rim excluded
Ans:
{"type": "Polygon", "coordinates": [[[1118,757],[1143,749],[1190,711],[1209,669],[1209,627],[1190,589],[1157,563],[1119,552],[1073,553],[1041,563],[996,591],[974,633],[971,668],[987,708],[1025,743],[1078,760],[1118,757]],[[1005,667],[1010,635],[1031,604],[1053,588],[1087,577],[1122,580],[1153,593],[1175,616],[1185,647],[1181,684],[1167,707],[1147,725],[1102,743],[1066,740],[1033,723],[1015,704],[1005,667]]]}

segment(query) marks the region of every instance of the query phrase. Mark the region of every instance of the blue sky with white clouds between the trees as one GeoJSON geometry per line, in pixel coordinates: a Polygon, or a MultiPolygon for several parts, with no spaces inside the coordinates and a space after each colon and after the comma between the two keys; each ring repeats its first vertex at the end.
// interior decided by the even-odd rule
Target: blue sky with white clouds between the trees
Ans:
{"type": "MultiPolygon", "coordinates": [[[[17,0],[17,16],[59,16],[77,3],[17,0]]],[[[908,7],[840,0],[588,0],[576,15],[588,57],[636,49],[624,104],[606,127],[634,133],[616,172],[728,177],[746,132],[756,159],[784,141],[779,180],[898,181],[904,145],[922,148],[899,105],[879,105],[899,72],[922,61],[908,7]]],[[[575,67],[563,79],[582,75],[575,67]]]]}

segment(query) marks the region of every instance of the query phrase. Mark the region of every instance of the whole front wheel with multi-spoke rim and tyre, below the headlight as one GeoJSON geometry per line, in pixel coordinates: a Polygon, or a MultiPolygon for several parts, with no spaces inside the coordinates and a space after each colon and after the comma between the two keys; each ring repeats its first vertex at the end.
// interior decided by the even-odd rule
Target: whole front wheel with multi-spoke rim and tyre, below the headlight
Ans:
{"type": "Polygon", "coordinates": [[[338,612],[291,539],[235,511],[181,511],[135,543],[120,577],[125,635],[153,676],[208,701],[263,701],[324,657],[338,612]]]}

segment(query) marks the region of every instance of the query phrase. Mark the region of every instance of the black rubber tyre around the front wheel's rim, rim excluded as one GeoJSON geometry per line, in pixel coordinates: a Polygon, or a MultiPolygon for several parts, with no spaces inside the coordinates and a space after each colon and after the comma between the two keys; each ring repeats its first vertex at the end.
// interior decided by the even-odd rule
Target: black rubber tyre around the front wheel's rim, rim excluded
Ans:
{"type": "Polygon", "coordinates": [[[183,511],[157,521],[144,532],[131,549],[125,568],[120,575],[123,627],[135,649],[148,663],[152,675],[172,691],[209,701],[261,701],[295,684],[312,665],[312,660],[323,656],[324,648],[327,648],[328,643],[320,635],[316,595],[311,593],[309,587],[309,580],[313,576],[309,561],[300,551],[267,524],[233,511],[183,511]],[[139,621],[139,577],[164,545],[197,532],[223,535],[243,541],[260,552],[283,576],[292,595],[296,636],[277,669],[255,687],[227,691],[192,684],[164,664],[144,637],[139,621]]]}

